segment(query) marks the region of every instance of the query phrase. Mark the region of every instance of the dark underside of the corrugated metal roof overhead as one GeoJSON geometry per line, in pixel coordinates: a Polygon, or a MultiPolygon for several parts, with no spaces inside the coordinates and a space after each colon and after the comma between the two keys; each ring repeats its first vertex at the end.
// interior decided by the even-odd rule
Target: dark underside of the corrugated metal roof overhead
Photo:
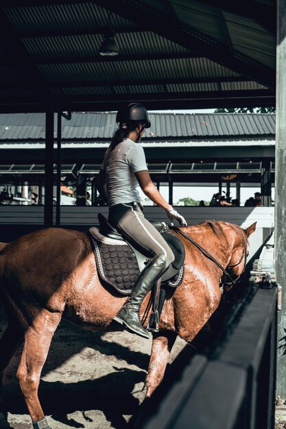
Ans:
{"type": "Polygon", "coordinates": [[[237,1],[3,0],[0,110],[274,106],[276,3],[237,1]],[[116,58],[99,55],[109,18],[116,58]]]}

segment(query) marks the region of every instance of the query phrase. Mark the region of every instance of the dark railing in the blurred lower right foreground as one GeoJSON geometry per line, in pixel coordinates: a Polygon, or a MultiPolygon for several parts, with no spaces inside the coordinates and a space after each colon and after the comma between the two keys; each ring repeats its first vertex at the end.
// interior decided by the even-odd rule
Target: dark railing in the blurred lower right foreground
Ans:
{"type": "Polygon", "coordinates": [[[185,347],[141,428],[274,429],[277,287],[268,263],[271,248],[266,265],[254,265],[248,293],[224,339],[211,353],[193,358],[185,347]]]}

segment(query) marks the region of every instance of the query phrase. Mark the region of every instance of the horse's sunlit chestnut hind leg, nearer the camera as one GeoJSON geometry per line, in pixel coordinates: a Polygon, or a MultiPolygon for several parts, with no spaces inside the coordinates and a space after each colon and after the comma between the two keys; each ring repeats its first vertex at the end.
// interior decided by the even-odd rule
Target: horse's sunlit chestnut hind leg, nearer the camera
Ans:
{"type": "Polygon", "coordinates": [[[23,353],[17,377],[34,428],[49,428],[38,400],[38,384],[53,333],[60,323],[61,316],[61,313],[58,312],[40,310],[33,325],[25,332],[23,353]]]}

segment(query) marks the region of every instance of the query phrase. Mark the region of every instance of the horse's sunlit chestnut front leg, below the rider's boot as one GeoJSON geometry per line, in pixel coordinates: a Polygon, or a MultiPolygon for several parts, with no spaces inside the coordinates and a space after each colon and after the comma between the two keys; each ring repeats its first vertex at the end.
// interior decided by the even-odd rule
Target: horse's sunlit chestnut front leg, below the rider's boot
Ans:
{"type": "Polygon", "coordinates": [[[163,380],[165,369],[177,334],[176,332],[164,331],[154,334],[152,352],[146,378],[146,398],[150,397],[163,380]]]}

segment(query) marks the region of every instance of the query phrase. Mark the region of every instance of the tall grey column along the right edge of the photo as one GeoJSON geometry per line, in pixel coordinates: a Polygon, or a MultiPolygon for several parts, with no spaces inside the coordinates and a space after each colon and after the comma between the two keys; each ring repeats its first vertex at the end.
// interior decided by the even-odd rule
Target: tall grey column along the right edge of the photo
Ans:
{"type": "Polygon", "coordinates": [[[286,397],[286,0],[277,0],[276,50],[276,147],[275,147],[275,269],[282,286],[278,312],[277,395],[286,397]]]}

